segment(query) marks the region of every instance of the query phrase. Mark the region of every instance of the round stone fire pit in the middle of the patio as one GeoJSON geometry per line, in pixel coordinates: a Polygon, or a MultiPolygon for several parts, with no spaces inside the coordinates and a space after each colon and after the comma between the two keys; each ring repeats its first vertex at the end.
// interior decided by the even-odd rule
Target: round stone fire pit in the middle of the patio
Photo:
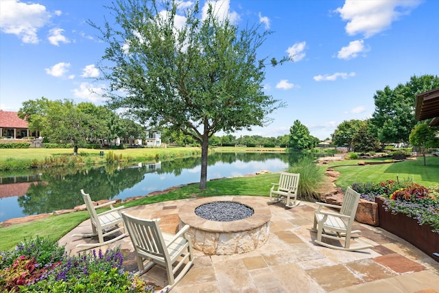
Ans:
{"type": "MultiPolygon", "coordinates": [[[[231,204],[233,205],[233,204],[231,204]]],[[[215,211],[214,213],[220,213],[215,211]]],[[[185,204],[178,213],[180,228],[188,224],[193,248],[206,255],[234,255],[248,253],[265,244],[270,235],[270,209],[252,198],[217,196],[197,198],[185,204]],[[253,211],[241,220],[207,220],[195,214],[195,209],[211,202],[237,203],[253,211]]]]}

